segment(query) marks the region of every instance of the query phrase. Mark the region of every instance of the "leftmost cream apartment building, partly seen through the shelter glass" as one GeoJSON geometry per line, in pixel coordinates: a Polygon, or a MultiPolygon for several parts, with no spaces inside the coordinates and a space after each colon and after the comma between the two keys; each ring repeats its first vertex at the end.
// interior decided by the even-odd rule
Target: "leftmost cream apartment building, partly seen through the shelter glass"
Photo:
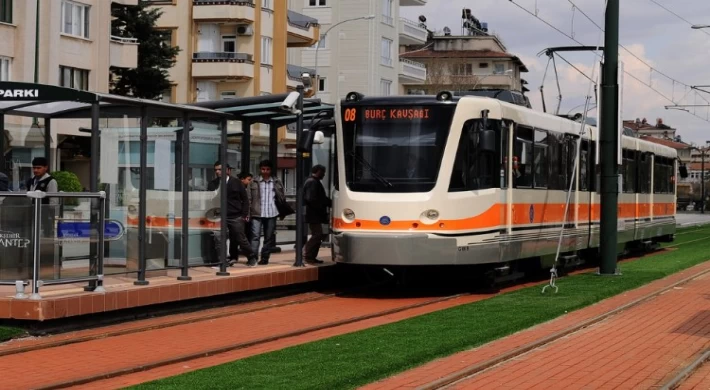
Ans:
{"type": "MultiPolygon", "coordinates": [[[[136,5],[138,0],[0,0],[0,81],[34,82],[36,72],[42,84],[108,92],[111,67],[134,68],[138,63],[138,43],[111,35],[112,3],[136,5]]],[[[79,132],[88,123],[55,122],[50,134],[53,168],[76,172],[88,186],[88,159],[70,150],[56,153],[68,140],[88,142],[81,141],[88,137],[79,132]]],[[[30,177],[32,159],[44,155],[43,127],[41,119],[35,124],[27,118],[5,118],[9,149],[3,151],[8,166],[2,169],[14,180],[30,177]]]]}

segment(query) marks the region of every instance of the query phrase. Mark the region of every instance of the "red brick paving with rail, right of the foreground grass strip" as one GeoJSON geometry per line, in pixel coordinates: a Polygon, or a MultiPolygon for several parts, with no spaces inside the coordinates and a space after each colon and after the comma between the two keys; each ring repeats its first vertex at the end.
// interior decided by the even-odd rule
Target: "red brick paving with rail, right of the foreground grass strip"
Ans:
{"type": "MultiPolygon", "coordinates": [[[[426,385],[597,317],[706,270],[710,270],[710,262],[479,348],[437,359],[363,388],[406,389],[426,385]]],[[[588,388],[597,389],[604,386],[627,388],[633,387],[633,383],[640,386],[639,388],[648,388],[648,382],[644,382],[646,379],[650,381],[651,378],[661,375],[654,383],[664,379],[670,380],[674,372],[692,362],[698,351],[710,345],[708,294],[710,294],[710,275],[706,274],[602,323],[520,356],[512,363],[481,373],[474,377],[476,382],[467,383],[472,386],[466,388],[544,387],[550,389],[584,388],[588,385],[588,388]],[[603,331],[593,333],[598,329],[603,331]],[[570,340],[577,342],[570,342],[570,340]],[[569,344],[565,344],[567,342],[569,344]],[[656,361],[646,359],[651,356],[655,357],[656,361]],[[641,357],[644,359],[642,360],[641,357]],[[516,364],[515,370],[503,370],[513,364],[516,364]],[[491,374],[493,372],[495,374],[491,374]],[[598,375],[601,372],[603,376],[598,375]],[[635,378],[639,377],[642,380],[635,381],[635,378]]]]}

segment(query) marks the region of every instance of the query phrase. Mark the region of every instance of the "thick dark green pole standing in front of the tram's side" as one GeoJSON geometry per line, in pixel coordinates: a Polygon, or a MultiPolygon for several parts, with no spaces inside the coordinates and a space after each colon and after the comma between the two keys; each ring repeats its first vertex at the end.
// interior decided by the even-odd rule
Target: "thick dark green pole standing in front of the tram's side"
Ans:
{"type": "Polygon", "coordinates": [[[601,229],[600,275],[617,269],[617,218],[619,201],[619,0],[608,0],[604,18],[604,64],[601,107],[601,229]]]}

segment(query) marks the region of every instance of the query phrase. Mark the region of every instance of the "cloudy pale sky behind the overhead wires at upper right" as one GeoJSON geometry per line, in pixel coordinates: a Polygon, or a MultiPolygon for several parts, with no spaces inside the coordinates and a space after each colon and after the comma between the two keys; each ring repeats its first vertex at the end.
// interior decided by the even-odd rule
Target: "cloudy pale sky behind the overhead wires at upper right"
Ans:
{"type": "MultiPolygon", "coordinates": [[[[667,105],[710,105],[710,93],[689,88],[710,85],[710,28],[690,28],[691,24],[710,25],[710,1],[622,0],[620,3],[619,43],[626,50],[619,48],[619,60],[627,73],[623,79],[623,118],[646,118],[650,123],[662,118],[663,123],[678,130],[677,134],[685,142],[705,144],[710,141],[709,108],[685,108],[690,112],[665,109],[667,105]]],[[[529,72],[523,73],[522,78],[527,80],[530,89],[527,96],[533,109],[541,111],[539,88],[548,57],[538,56],[538,53],[548,47],[579,43],[538,18],[584,45],[603,46],[600,28],[584,14],[604,27],[604,4],[601,0],[428,0],[425,6],[401,7],[400,16],[418,20],[419,15],[424,15],[429,30],[441,31],[449,27],[452,35],[458,35],[461,33],[461,10],[471,9],[478,20],[488,23],[489,32],[501,38],[508,52],[525,63],[529,72]]],[[[592,75],[592,68],[599,63],[599,58],[590,52],[561,54],[587,76],[592,75]]],[[[560,113],[571,109],[572,113],[583,111],[585,96],[590,95],[589,80],[559,58],[556,62],[562,90],[560,113]]],[[[598,67],[594,72],[598,75],[598,67]]],[[[547,111],[554,111],[558,93],[552,64],[545,77],[544,93],[547,111]]],[[[594,98],[591,104],[596,105],[594,98]]],[[[589,116],[597,117],[597,110],[590,111],[589,116]]]]}

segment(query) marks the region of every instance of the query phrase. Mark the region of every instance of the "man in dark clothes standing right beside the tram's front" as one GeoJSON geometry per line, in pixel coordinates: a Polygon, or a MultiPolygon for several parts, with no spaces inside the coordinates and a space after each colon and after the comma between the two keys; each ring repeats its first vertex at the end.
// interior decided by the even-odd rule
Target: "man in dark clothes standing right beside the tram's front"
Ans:
{"type": "Polygon", "coordinates": [[[328,207],[331,207],[332,202],[325,193],[325,188],[321,180],[325,177],[325,167],[315,165],[311,169],[311,177],[306,180],[303,185],[303,203],[306,206],[306,223],[311,230],[311,238],[306,243],[303,249],[303,258],[311,264],[323,263],[318,260],[318,250],[325,238],[323,234],[323,224],[328,221],[328,207]]]}

